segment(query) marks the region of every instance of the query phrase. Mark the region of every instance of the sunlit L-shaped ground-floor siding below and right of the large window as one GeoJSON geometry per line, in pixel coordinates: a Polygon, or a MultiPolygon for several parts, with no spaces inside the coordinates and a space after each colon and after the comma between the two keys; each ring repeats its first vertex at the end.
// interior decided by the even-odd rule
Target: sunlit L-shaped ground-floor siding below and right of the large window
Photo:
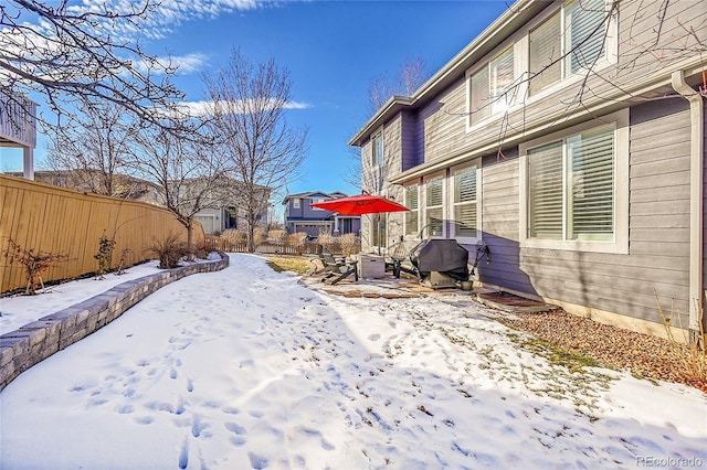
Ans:
{"type": "MultiPolygon", "coordinates": [[[[686,102],[631,109],[627,255],[521,249],[528,292],[659,322],[655,296],[668,312],[688,311],[689,113],[686,102]],[[668,133],[668,142],[659,135],[668,133]],[[654,142],[654,145],[651,145],[654,142]]],[[[504,285],[502,280],[499,285],[504,285]]],[[[682,319],[684,324],[687,317],[682,319]]]]}

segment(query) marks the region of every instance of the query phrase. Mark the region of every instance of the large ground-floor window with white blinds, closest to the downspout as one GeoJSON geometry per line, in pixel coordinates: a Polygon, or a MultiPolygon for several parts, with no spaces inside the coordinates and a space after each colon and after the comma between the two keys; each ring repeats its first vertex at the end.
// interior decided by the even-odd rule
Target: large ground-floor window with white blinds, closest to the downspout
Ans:
{"type": "Polygon", "coordinates": [[[614,126],[528,150],[528,236],[612,241],[614,126]]]}

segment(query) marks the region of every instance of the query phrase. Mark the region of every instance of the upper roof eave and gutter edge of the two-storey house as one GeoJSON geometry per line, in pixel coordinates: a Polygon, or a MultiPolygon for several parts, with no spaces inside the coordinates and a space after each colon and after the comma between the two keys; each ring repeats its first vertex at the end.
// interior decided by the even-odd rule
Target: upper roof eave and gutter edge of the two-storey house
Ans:
{"type": "Polygon", "coordinates": [[[390,120],[391,117],[405,108],[418,108],[425,105],[435,94],[456,81],[479,58],[488,54],[494,47],[513,34],[520,25],[540,10],[553,2],[537,0],[517,0],[508,10],[490,23],[471,43],[447,62],[437,73],[428,79],[412,96],[392,96],[349,140],[348,145],[361,147],[370,135],[390,120]]]}

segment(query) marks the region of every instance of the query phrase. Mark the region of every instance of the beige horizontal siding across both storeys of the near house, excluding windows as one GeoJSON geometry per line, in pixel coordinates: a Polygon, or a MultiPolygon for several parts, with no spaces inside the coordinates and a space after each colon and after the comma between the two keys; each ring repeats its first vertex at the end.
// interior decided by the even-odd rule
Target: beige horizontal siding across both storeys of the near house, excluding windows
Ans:
{"type": "MultiPolygon", "coordinates": [[[[671,76],[684,71],[694,88],[701,84],[704,64],[698,51],[704,49],[699,44],[707,42],[707,10],[694,1],[618,2],[618,31],[611,34],[615,44],[608,49],[609,60],[590,74],[568,77],[530,97],[526,95],[527,84],[518,79],[518,98],[507,113],[469,127],[467,77],[510,45],[516,65],[525,68],[528,32],[557,12],[562,1],[547,4],[532,3],[532,12],[520,28],[482,35],[455,57],[458,62],[435,75],[443,82],[431,83],[439,86],[430,85],[419,94],[419,100],[402,105],[409,106],[402,111],[405,143],[401,154],[393,157],[400,159],[405,173],[394,182],[420,183],[430,174],[483,157],[479,228],[492,258],[478,267],[483,282],[557,300],[568,308],[577,307],[582,314],[616,313],[653,323],[635,323],[636,329],[647,324],[647,331],[661,329],[659,301],[665,312],[679,312],[673,324],[686,328],[694,306],[689,298],[692,128],[689,105],[675,94],[671,76]],[[485,47],[486,43],[490,45],[485,47]],[[574,129],[570,128],[592,120],[600,126],[602,116],[626,109],[627,201],[620,207],[629,206],[627,221],[620,222],[627,223],[627,234],[620,234],[627,239],[619,237],[621,243],[610,248],[614,253],[601,252],[601,243],[587,252],[567,249],[576,247],[572,242],[564,243],[562,249],[550,249],[549,245],[531,248],[525,245],[534,243],[525,241],[521,244],[520,222],[526,207],[521,206],[525,195],[520,188],[525,182],[519,180],[519,162],[524,161],[518,158],[519,146],[549,135],[560,136],[564,130],[571,132],[574,129]],[[408,157],[409,141],[414,142],[414,158],[408,157]]],[[[384,126],[398,119],[388,115],[380,118],[381,122],[388,119],[384,126]]],[[[365,132],[355,141],[362,141],[365,132]]],[[[707,131],[705,140],[707,147],[707,131]]],[[[704,160],[703,164],[707,174],[704,160]]],[[[620,171],[624,173],[626,168],[620,171]]],[[[704,181],[701,199],[707,206],[704,181]]],[[[449,215],[449,202],[445,211],[449,215]]],[[[707,232],[707,212],[703,212],[707,232]]],[[[473,259],[474,246],[467,249],[473,259]]],[[[701,260],[703,286],[707,289],[707,253],[701,260]]],[[[627,323],[633,328],[634,323],[627,323]]]]}

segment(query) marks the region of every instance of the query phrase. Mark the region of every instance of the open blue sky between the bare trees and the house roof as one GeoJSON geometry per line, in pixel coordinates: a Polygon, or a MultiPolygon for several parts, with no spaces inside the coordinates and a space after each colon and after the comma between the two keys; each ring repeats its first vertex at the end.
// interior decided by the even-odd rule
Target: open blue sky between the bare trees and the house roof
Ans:
{"type": "MultiPolygon", "coordinates": [[[[91,0],[89,0],[91,1],[91,0]]],[[[394,76],[421,57],[434,73],[507,8],[488,1],[285,1],[175,0],[161,19],[162,34],[140,41],[157,55],[183,63],[177,85],[189,102],[204,98],[202,74],[223,65],[233,46],[254,63],[274,57],[286,67],[293,100],[288,124],[309,129],[309,152],[291,193],[323,190],[352,194],[348,140],[370,118],[368,86],[394,76]],[[205,9],[210,14],[204,15],[205,9]],[[168,30],[165,30],[168,29],[168,30]]],[[[46,140],[40,138],[35,167],[46,140]]],[[[19,171],[19,152],[0,149],[0,170],[19,171]]]]}

